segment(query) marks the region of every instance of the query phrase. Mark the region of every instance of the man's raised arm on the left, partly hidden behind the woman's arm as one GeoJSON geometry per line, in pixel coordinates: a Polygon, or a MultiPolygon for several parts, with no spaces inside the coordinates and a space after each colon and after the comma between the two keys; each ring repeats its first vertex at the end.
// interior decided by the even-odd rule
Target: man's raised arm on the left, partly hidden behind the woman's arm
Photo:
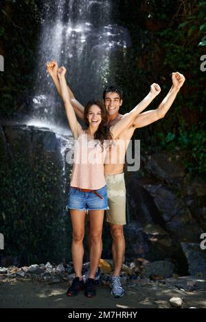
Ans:
{"type": "MultiPolygon", "coordinates": [[[[52,77],[53,82],[56,86],[56,90],[58,91],[58,94],[60,97],[62,97],[61,89],[60,89],[60,83],[58,79],[58,64],[56,60],[52,60],[51,62],[47,62],[47,72],[52,77]]],[[[84,106],[74,97],[73,92],[71,91],[71,88],[67,85],[67,90],[69,92],[69,97],[71,99],[71,105],[73,106],[73,109],[76,113],[76,115],[83,121],[84,120],[84,106]]]]}

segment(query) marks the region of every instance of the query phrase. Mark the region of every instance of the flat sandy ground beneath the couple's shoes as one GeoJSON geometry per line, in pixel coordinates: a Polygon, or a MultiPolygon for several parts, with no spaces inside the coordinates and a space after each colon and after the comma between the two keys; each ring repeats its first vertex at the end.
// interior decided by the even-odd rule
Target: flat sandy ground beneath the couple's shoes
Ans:
{"type": "Polygon", "coordinates": [[[108,286],[97,286],[93,299],[67,297],[67,282],[48,284],[21,280],[1,280],[0,308],[170,308],[171,297],[181,297],[183,308],[206,308],[206,290],[179,290],[161,282],[130,282],[125,286],[126,295],[114,299],[108,286]],[[135,283],[135,284],[134,284],[135,283]]]}

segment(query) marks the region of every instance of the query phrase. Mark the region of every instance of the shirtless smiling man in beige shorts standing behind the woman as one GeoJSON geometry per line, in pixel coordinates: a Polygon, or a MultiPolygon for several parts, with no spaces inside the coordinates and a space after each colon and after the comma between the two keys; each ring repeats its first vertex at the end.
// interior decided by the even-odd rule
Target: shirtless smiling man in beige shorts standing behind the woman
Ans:
{"type": "MultiPolygon", "coordinates": [[[[47,71],[54,80],[54,84],[60,94],[57,69],[58,65],[56,61],[52,61],[47,64],[47,71]]],[[[110,162],[106,162],[104,165],[104,175],[106,178],[108,193],[108,206],[110,208],[106,212],[106,221],[110,225],[111,236],[113,238],[112,253],[114,271],[111,279],[111,295],[113,295],[113,297],[122,297],[124,295],[124,288],[122,287],[119,275],[122,269],[125,251],[123,226],[126,224],[126,189],[124,184],[124,158],[126,155],[126,149],[135,129],[149,125],[165,116],[184,82],[185,77],[181,73],[172,73],[172,87],[170,88],[168,95],[165,96],[156,110],[149,110],[137,114],[133,119],[133,122],[131,122],[121,134],[119,134],[118,139],[115,141],[115,149],[112,148],[111,152],[108,153],[108,160],[110,162]],[[117,148],[117,145],[119,145],[119,149],[117,148]],[[113,160],[115,160],[115,162],[113,162],[113,160]]],[[[68,90],[71,97],[71,104],[76,114],[80,119],[82,119],[84,107],[76,100],[69,87],[68,90]]],[[[159,87],[156,87],[156,92],[160,92],[159,87]]],[[[104,90],[103,100],[108,112],[108,125],[113,126],[126,115],[119,114],[119,108],[122,106],[121,88],[117,86],[108,86],[104,90]]],[[[151,101],[152,99],[147,99],[147,105],[145,105],[148,106],[151,101]]],[[[142,102],[144,102],[144,100],[141,101],[141,103],[142,102]]]]}

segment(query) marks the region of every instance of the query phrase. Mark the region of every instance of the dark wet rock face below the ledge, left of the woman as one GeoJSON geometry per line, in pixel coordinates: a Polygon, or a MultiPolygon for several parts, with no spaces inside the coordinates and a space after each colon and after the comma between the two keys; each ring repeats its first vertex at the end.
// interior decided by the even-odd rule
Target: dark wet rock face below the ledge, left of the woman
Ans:
{"type": "Polygon", "coordinates": [[[60,261],[69,255],[71,226],[65,207],[71,166],[64,163],[61,140],[49,129],[1,127],[2,266],[14,264],[16,256],[17,264],[25,265],[36,258],[60,261]],[[15,253],[12,259],[10,252],[15,253]]]}

